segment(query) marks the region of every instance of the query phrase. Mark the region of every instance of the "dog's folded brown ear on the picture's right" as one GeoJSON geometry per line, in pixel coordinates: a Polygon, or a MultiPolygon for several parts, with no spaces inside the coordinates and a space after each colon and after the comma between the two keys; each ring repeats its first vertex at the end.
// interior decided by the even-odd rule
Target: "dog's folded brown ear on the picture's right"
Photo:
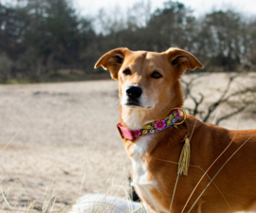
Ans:
{"type": "Polygon", "coordinates": [[[179,49],[170,48],[167,51],[169,62],[174,65],[179,75],[182,75],[187,69],[194,70],[196,67],[204,68],[191,53],[179,49]]]}

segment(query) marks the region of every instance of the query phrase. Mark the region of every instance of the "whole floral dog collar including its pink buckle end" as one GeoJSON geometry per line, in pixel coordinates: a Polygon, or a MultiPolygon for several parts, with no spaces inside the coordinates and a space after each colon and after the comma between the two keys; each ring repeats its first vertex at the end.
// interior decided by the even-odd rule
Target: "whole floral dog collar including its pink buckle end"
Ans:
{"type": "MultiPolygon", "coordinates": [[[[175,108],[174,111],[172,111],[169,115],[167,115],[165,118],[157,121],[153,121],[151,123],[145,124],[141,129],[130,131],[127,128],[121,126],[119,123],[117,125],[119,133],[122,138],[126,138],[128,140],[133,140],[134,137],[139,136],[146,136],[153,133],[158,133],[160,131],[163,131],[167,129],[168,127],[171,127],[177,119],[180,117],[178,109],[180,109],[183,112],[183,115],[186,115],[185,112],[181,108],[175,108]]],[[[186,117],[184,117],[184,120],[186,117]]],[[[182,123],[182,122],[181,122],[182,123]]],[[[179,124],[181,124],[179,123],[179,124]]]]}

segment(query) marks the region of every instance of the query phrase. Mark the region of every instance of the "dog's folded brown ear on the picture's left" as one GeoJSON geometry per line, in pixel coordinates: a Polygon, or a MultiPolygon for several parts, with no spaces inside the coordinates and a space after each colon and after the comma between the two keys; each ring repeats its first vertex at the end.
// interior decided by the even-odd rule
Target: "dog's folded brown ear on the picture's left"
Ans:
{"type": "Polygon", "coordinates": [[[127,50],[129,49],[124,47],[110,50],[101,56],[101,59],[96,62],[94,68],[102,66],[104,69],[110,71],[112,79],[118,80],[119,68],[124,60],[124,54],[127,50]]]}

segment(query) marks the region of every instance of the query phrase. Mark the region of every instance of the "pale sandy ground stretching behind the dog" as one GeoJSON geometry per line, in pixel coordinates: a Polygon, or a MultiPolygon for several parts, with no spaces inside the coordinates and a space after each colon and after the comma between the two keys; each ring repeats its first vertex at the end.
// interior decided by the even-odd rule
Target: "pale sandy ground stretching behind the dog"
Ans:
{"type": "MultiPolygon", "coordinates": [[[[252,77],[255,75],[237,79],[233,89],[255,85],[252,77]]],[[[219,97],[217,89],[223,90],[227,80],[225,74],[196,80],[192,91],[205,95],[203,109],[219,97]]],[[[96,191],[125,196],[131,165],[116,130],[119,99],[115,80],[0,85],[0,97],[2,208],[34,202],[44,209],[52,198],[52,209],[58,210],[80,195],[96,191]]],[[[185,105],[191,106],[192,100],[185,105]]],[[[223,106],[219,115],[229,110],[223,106]]],[[[220,126],[236,129],[238,118],[235,115],[220,126]]],[[[255,120],[254,105],[240,115],[239,129],[256,129],[255,120]]]]}

